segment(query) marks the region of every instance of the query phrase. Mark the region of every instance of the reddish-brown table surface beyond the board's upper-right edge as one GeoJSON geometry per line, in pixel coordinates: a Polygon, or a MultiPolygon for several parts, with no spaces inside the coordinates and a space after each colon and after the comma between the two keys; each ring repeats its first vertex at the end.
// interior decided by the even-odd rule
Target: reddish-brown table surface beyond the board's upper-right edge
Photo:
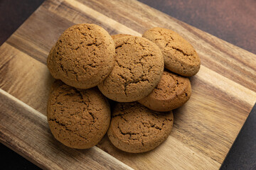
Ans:
{"type": "Polygon", "coordinates": [[[255,0],[139,1],[256,54],[255,0]]]}

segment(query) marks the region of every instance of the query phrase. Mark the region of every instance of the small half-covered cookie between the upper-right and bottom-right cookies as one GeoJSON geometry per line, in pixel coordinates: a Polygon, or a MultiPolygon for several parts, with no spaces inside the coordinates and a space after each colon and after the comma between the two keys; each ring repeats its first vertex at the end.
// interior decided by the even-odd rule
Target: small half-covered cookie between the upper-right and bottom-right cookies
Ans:
{"type": "Polygon", "coordinates": [[[181,107],[191,97],[191,83],[187,77],[164,71],[156,88],[138,102],[153,111],[171,111],[181,107]]]}

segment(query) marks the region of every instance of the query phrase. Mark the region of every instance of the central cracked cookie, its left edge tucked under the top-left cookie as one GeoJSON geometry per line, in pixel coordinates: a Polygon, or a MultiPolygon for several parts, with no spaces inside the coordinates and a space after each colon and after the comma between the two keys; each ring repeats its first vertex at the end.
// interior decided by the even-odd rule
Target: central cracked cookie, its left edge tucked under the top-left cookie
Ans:
{"type": "Polygon", "coordinates": [[[164,58],[154,42],[135,36],[114,40],[114,68],[98,85],[102,94],[113,101],[132,102],[146,97],[159,83],[164,58]]]}

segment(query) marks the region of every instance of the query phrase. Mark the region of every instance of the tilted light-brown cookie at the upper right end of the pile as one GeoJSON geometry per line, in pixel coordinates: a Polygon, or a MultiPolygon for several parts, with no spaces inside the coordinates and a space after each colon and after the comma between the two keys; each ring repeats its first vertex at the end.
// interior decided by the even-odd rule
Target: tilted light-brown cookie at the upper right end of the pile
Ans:
{"type": "Polygon", "coordinates": [[[196,50],[178,33],[166,28],[151,28],[142,37],[160,47],[165,67],[171,72],[191,77],[199,71],[201,61],[196,50]]]}

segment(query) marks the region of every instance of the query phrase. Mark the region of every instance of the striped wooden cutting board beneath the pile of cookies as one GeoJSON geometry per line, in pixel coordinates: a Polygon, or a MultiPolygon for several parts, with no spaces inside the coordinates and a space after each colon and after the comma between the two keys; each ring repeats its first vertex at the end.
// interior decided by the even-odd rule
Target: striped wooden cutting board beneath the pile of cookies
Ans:
{"type": "Polygon", "coordinates": [[[43,169],[218,169],[256,101],[256,55],[138,1],[47,0],[0,47],[0,140],[43,169]],[[97,147],[70,149],[46,120],[53,83],[50,47],[75,23],[141,36],[170,28],[195,47],[201,69],[191,99],[174,111],[169,138],[151,152],[129,154],[105,136],[97,147]]]}

